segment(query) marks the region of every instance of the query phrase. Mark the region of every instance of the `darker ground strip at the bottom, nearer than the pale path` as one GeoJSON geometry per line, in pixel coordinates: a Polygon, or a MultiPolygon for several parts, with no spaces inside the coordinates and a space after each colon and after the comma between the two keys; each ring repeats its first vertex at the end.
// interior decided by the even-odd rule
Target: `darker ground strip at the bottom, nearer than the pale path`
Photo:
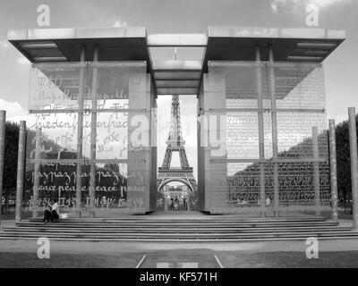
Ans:
{"type": "MultiPolygon", "coordinates": [[[[143,268],[156,268],[157,263],[178,265],[196,262],[199,268],[217,268],[213,252],[207,249],[190,251],[171,250],[150,252],[143,268]]],[[[225,268],[357,268],[358,251],[321,252],[317,259],[307,259],[303,252],[279,251],[263,253],[215,252],[225,268]]],[[[144,253],[112,255],[52,254],[49,259],[38,259],[36,253],[0,253],[1,268],[135,268],[144,253]]]]}

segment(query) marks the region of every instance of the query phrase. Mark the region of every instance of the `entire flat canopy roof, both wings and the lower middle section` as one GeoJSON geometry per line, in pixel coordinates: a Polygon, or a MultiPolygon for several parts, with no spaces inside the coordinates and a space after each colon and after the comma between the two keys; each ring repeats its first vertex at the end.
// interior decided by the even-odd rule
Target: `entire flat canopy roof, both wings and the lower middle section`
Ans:
{"type": "Polygon", "coordinates": [[[146,61],[158,95],[195,95],[209,61],[255,61],[256,46],[268,61],[272,46],[277,62],[321,63],[345,40],[345,30],[209,27],[206,34],[148,35],[141,27],[21,29],[10,30],[8,40],[31,63],[80,62],[81,46],[90,62],[98,46],[99,61],[146,61]],[[205,50],[198,61],[158,61],[150,55],[153,47],[205,50]]]}

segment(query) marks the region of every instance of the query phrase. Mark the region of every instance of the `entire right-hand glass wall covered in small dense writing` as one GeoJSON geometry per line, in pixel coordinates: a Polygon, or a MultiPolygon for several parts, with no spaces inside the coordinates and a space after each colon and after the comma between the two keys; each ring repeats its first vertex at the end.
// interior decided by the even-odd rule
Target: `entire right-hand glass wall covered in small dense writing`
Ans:
{"type": "MultiPolygon", "coordinates": [[[[319,188],[320,206],[327,209],[330,202],[328,133],[322,68],[320,64],[305,63],[275,63],[273,69],[268,63],[260,63],[259,66],[236,62],[209,64],[204,101],[208,100],[208,105],[211,105],[211,100],[215,103],[213,98],[216,94],[220,95],[222,90],[226,90],[227,159],[242,160],[240,163],[226,163],[226,156],[221,156],[219,161],[210,161],[212,207],[240,206],[236,210],[245,211],[247,206],[251,211],[260,211],[260,168],[263,167],[265,206],[268,212],[271,211],[268,207],[272,208],[274,199],[274,164],[270,161],[249,163],[252,159],[260,158],[259,113],[255,110],[245,111],[244,108],[259,107],[257,98],[260,86],[264,109],[264,158],[273,159],[272,124],[275,122],[272,122],[267,79],[274,71],[278,159],[287,160],[277,163],[279,206],[312,209],[315,206],[314,194],[319,188]],[[230,108],[243,108],[243,111],[230,112],[230,108]],[[290,109],[292,112],[289,112],[290,109]],[[318,129],[318,156],[314,154],[313,127],[318,129]],[[248,162],[243,163],[244,160],[248,162]]],[[[212,108],[215,111],[215,106],[212,108]]],[[[209,128],[210,132],[215,134],[217,130],[209,128]]]]}

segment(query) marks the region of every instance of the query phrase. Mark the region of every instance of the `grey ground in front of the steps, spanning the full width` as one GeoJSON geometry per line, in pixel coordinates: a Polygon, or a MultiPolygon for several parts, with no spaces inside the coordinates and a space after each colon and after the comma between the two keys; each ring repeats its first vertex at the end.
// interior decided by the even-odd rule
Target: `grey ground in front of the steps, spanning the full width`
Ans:
{"type": "Polygon", "coordinates": [[[37,242],[0,240],[0,267],[157,268],[184,267],[185,263],[200,268],[358,266],[357,239],[319,240],[317,259],[306,257],[308,246],[304,240],[230,243],[50,240],[49,259],[38,258],[37,242]]]}

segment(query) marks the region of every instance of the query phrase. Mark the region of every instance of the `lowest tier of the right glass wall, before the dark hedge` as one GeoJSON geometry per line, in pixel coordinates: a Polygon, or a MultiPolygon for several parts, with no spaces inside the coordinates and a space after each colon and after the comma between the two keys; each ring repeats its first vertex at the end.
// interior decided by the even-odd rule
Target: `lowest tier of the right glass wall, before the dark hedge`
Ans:
{"type": "MultiPolygon", "coordinates": [[[[328,162],[303,162],[278,164],[280,207],[315,206],[314,164],[318,166],[320,177],[320,207],[330,206],[328,162]]],[[[273,164],[265,163],[264,170],[265,206],[269,208],[273,207],[274,199],[273,164]]],[[[260,207],[260,163],[213,164],[210,175],[213,207],[260,207]]]]}

